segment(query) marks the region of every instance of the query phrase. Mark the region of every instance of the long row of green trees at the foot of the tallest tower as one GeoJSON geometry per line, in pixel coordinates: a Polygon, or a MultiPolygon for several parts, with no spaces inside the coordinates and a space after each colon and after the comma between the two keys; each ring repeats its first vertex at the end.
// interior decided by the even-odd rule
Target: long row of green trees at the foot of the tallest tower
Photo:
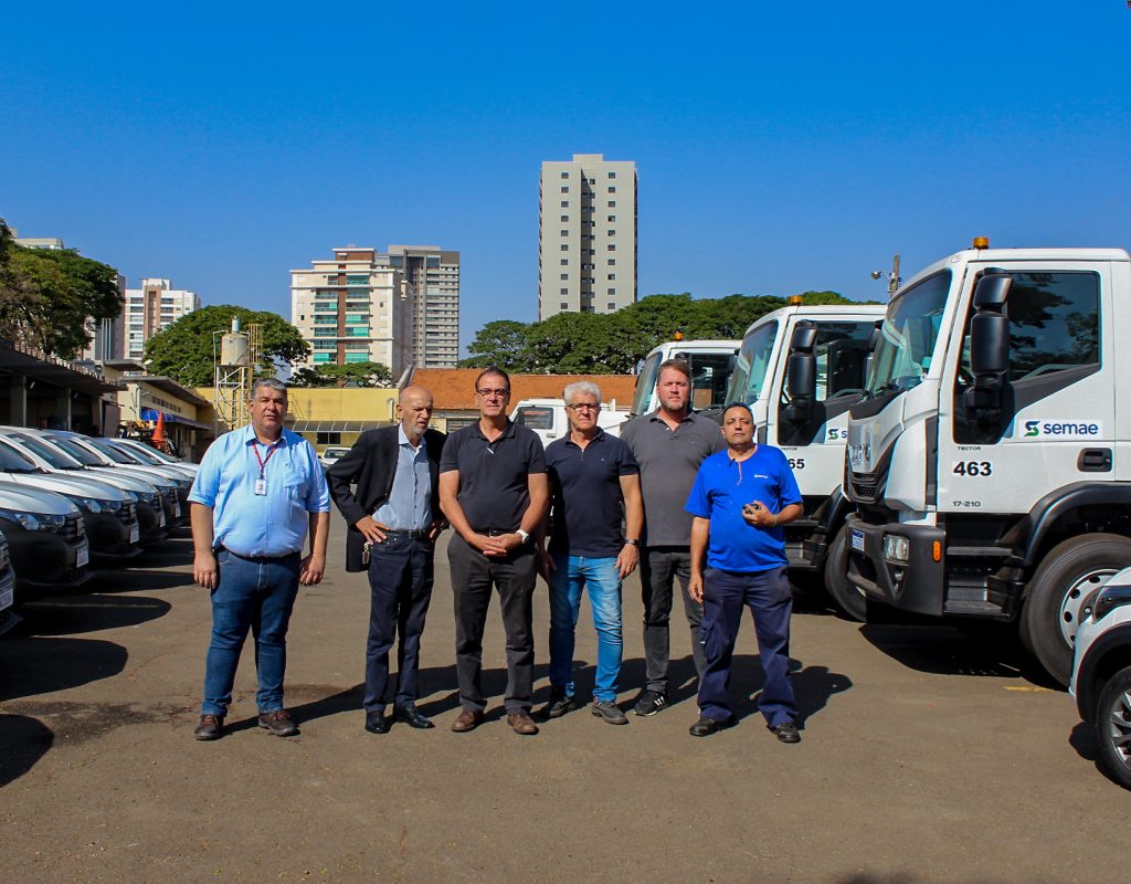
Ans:
{"type": "MultiPolygon", "coordinates": [[[[836,292],[805,292],[805,304],[854,303],[836,292]]],[[[480,329],[460,362],[535,375],[629,375],[653,347],[671,341],[735,340],[761,316],[786,306],[776,295],[696,300],[653,294],[614,314],[558,314],[539,323],[499,319],[480,329]]]]}

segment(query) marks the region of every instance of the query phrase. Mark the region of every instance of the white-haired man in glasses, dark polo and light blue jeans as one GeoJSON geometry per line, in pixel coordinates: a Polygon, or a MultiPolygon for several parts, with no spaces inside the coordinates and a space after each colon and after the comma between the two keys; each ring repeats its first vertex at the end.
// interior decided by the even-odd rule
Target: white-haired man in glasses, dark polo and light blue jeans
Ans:
{"type": "Polygon", "coordinates": [[[577,709],[573,636],[581,591],[588,590],[597,630],[593,714],[610,724],[628,724],[616,706],[623,650],[621,581],[636,569],[644,526],[640,467],[623,440],[597,426],[596,384],[570,384],[562,395],[570,431],[546,446],[552,503],[550,551],[543,563],[550,583],[550,702],[543,715],[555,719],[577,709]]]}

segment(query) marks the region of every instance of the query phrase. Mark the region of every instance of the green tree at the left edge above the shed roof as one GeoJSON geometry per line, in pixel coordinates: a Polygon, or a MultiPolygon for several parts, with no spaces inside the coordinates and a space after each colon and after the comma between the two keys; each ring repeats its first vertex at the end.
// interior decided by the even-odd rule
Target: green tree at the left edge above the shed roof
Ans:
{"type": "Polygon", "coordinates": [[[0,338],[75,359],[90,343],[86,319],[121,316],[118,271],[75,249],[28,249],[0,218],[0,338]]]}

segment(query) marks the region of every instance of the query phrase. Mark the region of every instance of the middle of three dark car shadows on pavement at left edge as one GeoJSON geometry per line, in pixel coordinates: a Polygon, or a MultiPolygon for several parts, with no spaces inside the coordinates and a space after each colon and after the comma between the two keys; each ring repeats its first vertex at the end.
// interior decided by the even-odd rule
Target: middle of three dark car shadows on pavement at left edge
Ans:
{"type": "Polygon", "coordinates": [[[0,642],[0,701],[116,676],[128,658],[120,644],[97,638],[9,637],[0,642]]]}

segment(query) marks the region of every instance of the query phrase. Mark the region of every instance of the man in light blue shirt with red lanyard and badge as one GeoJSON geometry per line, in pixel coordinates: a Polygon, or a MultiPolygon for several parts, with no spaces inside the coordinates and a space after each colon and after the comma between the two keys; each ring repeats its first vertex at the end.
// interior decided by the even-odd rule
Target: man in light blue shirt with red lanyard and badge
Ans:
{"type": "Polygon", "coordinates": [[[286,387],[257,380],[248,405],[251,423],[213,443],[189,492],[193,578],[211,591],[213,606],[198,740],[223,735],[249,629],[259,726],[279,737],[299,732],[283,707],[286,630],[299,584],[319,583],[326,570],[329,491],[310,443],[283,428],[286,387]],[[308,533],[311,551],[302,558],[308,533]]]}

